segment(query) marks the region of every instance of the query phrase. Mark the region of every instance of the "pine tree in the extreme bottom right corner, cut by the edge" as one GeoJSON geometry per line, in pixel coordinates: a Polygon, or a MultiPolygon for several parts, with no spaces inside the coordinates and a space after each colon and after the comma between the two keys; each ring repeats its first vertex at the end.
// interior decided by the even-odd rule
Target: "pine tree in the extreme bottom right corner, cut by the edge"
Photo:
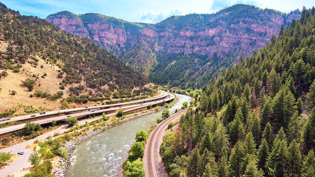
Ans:
{"type": "Polygon", "coordinates": [[[315,156],[314,151],[309,150],[305,157],[301,169],[302,177],[314,177],[315,176],[315,156]]]}

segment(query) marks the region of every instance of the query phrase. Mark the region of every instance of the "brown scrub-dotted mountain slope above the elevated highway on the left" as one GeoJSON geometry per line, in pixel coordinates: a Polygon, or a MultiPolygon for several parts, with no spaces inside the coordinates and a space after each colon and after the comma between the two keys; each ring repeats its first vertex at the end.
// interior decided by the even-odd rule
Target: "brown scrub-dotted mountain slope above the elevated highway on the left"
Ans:
{"type": "Polygon", "coordinates": [[[59,30],[46,20],[21,16],[0,4],[0,21],[2,109],[23,100],[43,102],[36,97],[86,103],[109,100],[118,90],[118,98],[134,97],[148,83],[90,39],[59,30]]]}

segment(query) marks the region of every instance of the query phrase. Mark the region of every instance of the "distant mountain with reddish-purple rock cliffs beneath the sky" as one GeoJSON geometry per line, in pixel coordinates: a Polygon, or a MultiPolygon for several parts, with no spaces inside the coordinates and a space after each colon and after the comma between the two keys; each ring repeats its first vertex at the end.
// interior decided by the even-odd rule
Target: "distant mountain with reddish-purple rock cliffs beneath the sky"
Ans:
{"type": "MultiPolygon", "coordinates": [[[[238,62],[236,58],[241,55],[247,57],[266,46],[273,35],[279,35],[281,25],[285,28],[292,19],[299,17],[298,10],[284,14],[235,5],[215,14],[173,16],[157,24],[130,23],[100,14],[75,15],[70,12],[52,14],[46,20],[62,30],[90,37],[135,70],[150,76],[152,82],[185,88],[201,87],[203,81],[208,83],[214,73],[238,62]],[[187,62],[193,64],[192,68],[178,69],[178,72],[185,73],[185,80],[197,84],[185,86],[183,76],[160,77],[170,65],[182,68],[177,66],[174,54],[192,58],[187,62]],[[227,61],[226,64],[220,64],[223,61],[227,61]],[[200,66],[200,63],[208,65],[200,66]],[[214,68],[217,70],[209,74],[214,68]]],[[[182,62],[178,63],[181,65],[182,62]]],[[[176,75],[172,71],[167,73],[168,76],[176,75]]]]}

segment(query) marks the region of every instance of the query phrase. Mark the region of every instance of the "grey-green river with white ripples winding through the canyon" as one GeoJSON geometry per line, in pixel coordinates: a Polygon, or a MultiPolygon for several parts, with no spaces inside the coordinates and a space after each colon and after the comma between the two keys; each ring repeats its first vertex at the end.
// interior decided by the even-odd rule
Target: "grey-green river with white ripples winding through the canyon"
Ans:
{"type": "MultiPolygon", "coordinates": [[[[168,108],[173,114],[181,109],[185,101],[191,97],[176,94],[178,101],[168,108]]],[[[156,124],[156,118],[162,116],[157,111],[137,119],[115,126],[105,132],[79,144],[70,157],[71,164],[67,167],[65,177],[98,177],[117,176],[118,170],[128,157],[131,144],[135,142],[137,131],[147,131],[156,124]]]]}

